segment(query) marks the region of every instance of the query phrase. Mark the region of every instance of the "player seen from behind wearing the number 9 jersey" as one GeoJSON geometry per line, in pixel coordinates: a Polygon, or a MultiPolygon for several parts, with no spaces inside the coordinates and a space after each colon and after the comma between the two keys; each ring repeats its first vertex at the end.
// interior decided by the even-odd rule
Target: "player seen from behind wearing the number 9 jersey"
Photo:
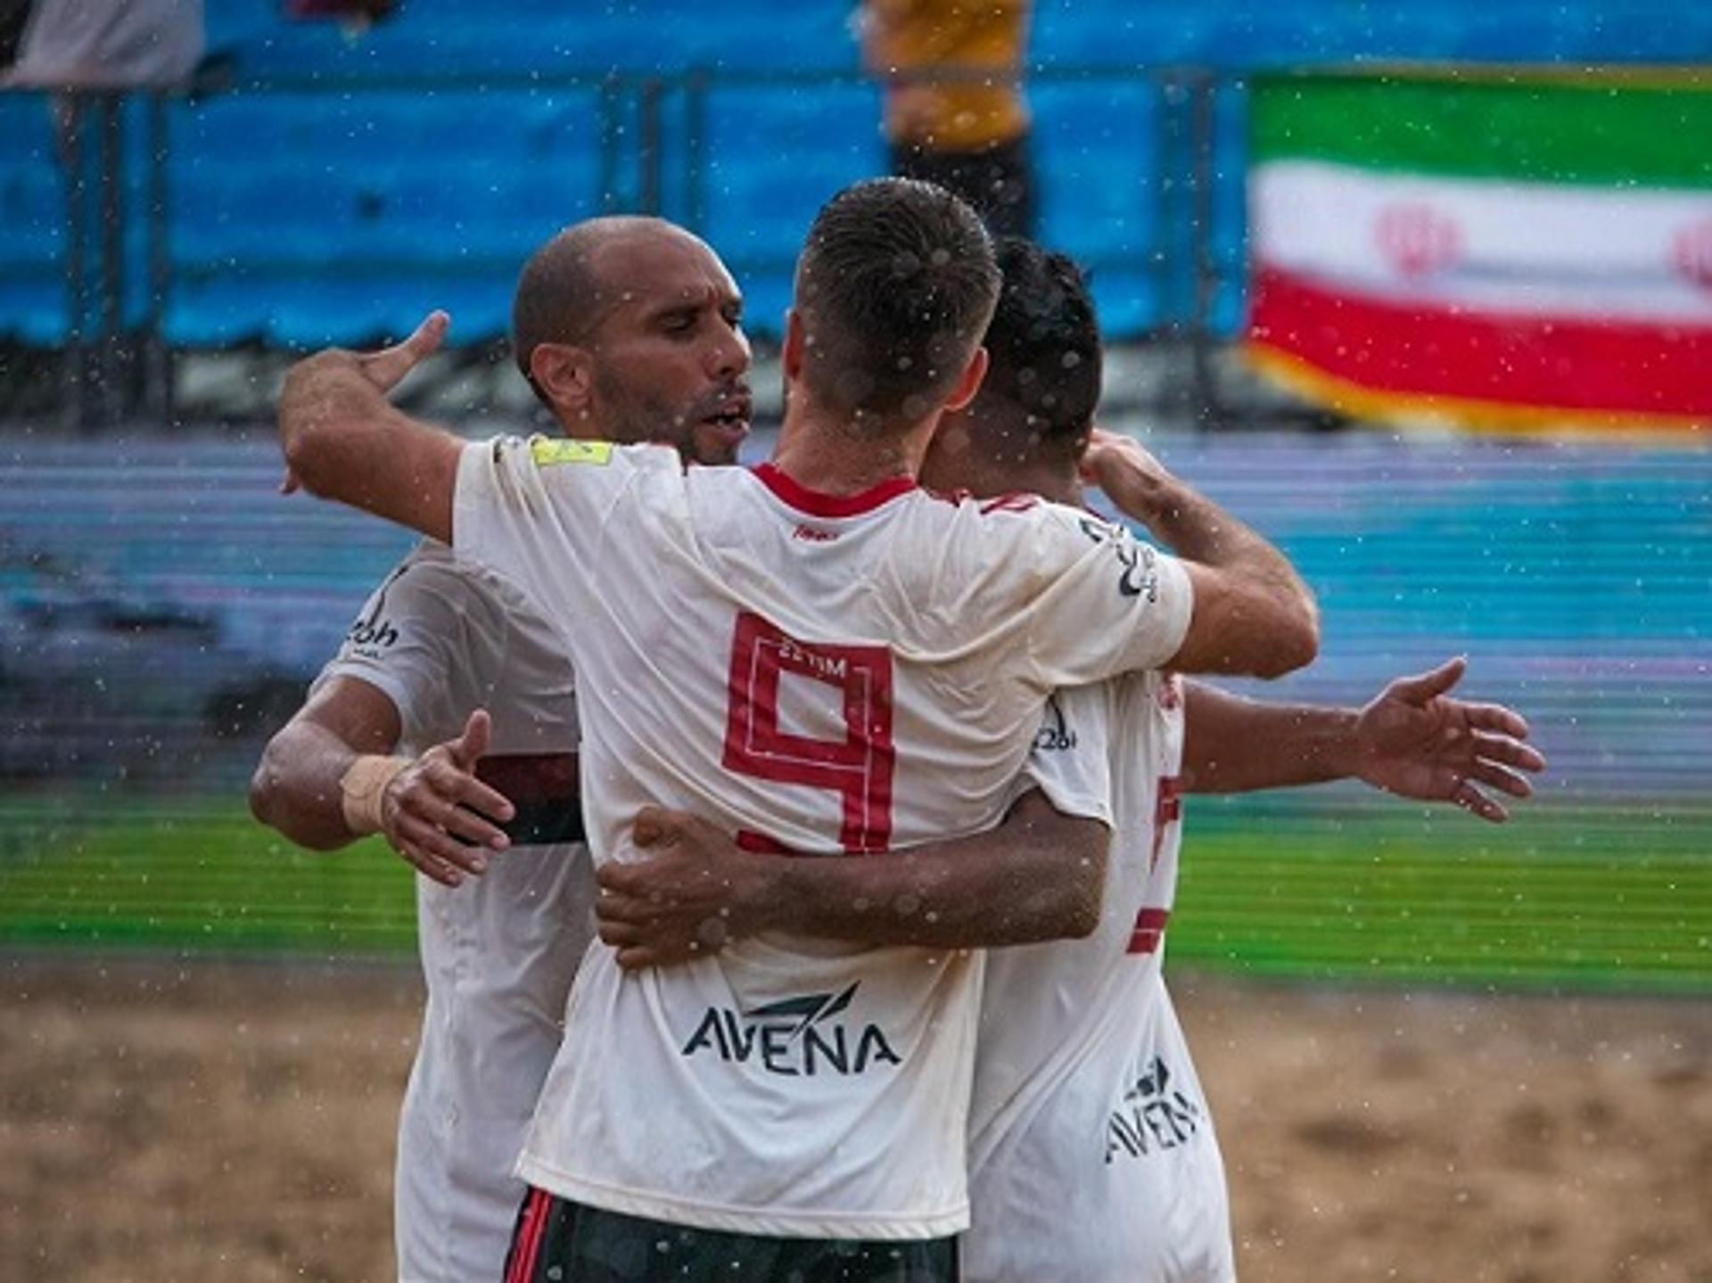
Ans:
{"type": "MultiPolygon", "coordinates": [[[[859,183],[798,262],[770,464],[466,445],[346,353],[293,368],[281,442],[308,490],[498,567],[558,629],[597,865],[635,858],[656,798],[765,850],[967,834],[1003,814],[1051,689],[1277,675],[1318,642],[1287,560],[1186,490],[1195,562],[1079,510],[916,486],[940,415],[979,387],[996,293],[967,206],[859,183]]],[[[950,1278],[978,988],[978,959],[938,949],[772,934],[625,973],[591,947],[510,1276],[950,1278]]]]}

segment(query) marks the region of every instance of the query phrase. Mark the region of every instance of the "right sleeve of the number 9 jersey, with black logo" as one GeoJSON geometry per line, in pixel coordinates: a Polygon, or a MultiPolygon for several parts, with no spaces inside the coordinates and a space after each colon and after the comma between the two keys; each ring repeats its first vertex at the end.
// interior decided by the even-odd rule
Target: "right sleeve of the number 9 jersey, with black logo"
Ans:
{"type": "Polygon", "coordinates": [[[1193,588],[1178,558],[1061,505],[1043,509],[1036,548],[1046,586],[1031,606],[1029,653],[1044,685],[1161,668],[1183,646],[1193,588]]]}

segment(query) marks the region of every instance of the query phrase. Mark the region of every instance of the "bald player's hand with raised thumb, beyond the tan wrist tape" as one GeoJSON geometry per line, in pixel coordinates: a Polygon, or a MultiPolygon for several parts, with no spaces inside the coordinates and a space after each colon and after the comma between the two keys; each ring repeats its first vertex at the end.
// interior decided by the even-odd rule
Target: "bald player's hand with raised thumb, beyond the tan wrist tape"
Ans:
{"type": "Polygon", "coordinates": [[[512,803],[476,778],[490,733],[486,711],[476,709],[462,733],[395,774],[380,800],[380,827],[392,848],[449,887],[483,874],[488,855],[510,846],[498,826],[512,819],[512,803]]]}

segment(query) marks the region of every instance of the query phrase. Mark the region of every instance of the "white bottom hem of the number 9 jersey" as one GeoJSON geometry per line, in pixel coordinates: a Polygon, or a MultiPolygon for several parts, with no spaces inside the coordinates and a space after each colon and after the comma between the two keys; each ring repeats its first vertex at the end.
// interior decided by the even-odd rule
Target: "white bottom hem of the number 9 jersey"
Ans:
{"type": "Polygon", "coordinates": [[[930,1214],[875,1214],[839,1211],[777,1213],[734,1208],[719,1202],[644,1194],[618,1185],[603,1185],[558,1172],[527,1156],[517,1165],[517,1175],[536,1189],[555,1197],[586,1202],[603,1211],[623,1216],[642,1216],[666,1225],[683,1225],[693,1230],[719,1230],[748,1233],[765,1238],[871,1238],[883,1242],[914,1242],[947,1238],[969,1228],[969,1201],[930,1214]]]}

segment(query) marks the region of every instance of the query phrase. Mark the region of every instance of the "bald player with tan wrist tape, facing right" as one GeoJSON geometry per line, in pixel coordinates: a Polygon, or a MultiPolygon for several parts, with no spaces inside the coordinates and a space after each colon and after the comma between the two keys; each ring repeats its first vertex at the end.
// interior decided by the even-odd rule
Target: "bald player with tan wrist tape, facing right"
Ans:
{"type": "MultiPolygon", "coordinates": [[[[750,404],[741,298],[681,228],[562,231],[524,267],[512,331],[568,437],[597,425],[734,461],[750,404]]],[[[512,584],[425,541],[368,598],[252,783],[257,817],[293,841],[332,850],[380,831],[421,874],[428,1002],[394,1185],[406,1283],[491,1280],[505,1264],[524,1194],[512,1167],[592,935],[575,747],[575,682],[551,627],[512,584]],[[481,815],[508,817],[510,838],[481,815]]]]}

